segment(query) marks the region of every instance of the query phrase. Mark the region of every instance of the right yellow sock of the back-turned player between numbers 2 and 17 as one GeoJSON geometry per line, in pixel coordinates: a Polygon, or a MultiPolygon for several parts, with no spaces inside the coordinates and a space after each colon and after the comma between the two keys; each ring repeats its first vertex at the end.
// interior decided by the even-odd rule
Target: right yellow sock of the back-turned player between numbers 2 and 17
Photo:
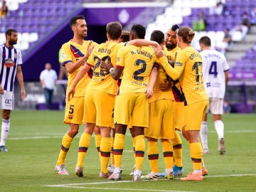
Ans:
{"type": "Polygon", "coordinates": [[[170,140],[161,142],[163,146],[163,154],[164,154],[164,163],[166,164],[166,169],[172,169],[174,166],[174,152],[173,152],[173,147],[172,143],[170,140]]]}

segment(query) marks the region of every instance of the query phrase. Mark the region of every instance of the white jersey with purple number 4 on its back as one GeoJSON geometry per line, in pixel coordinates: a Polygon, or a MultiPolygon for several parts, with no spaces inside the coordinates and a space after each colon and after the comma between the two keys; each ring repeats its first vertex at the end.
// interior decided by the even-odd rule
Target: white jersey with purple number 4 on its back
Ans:
{"type": "Polygon", "coordinates": [[[203,84],[208,97],[223,98],[225,95],[225,74],[229,70],[223,53],[217,50],[201,51],[203,60],[203,84]]]}

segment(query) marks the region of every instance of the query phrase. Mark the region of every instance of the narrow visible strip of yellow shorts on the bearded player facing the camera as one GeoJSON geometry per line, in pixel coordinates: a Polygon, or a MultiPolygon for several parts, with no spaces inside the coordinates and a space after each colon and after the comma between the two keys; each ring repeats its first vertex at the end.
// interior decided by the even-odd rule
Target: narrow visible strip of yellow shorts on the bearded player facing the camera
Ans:
{"type": "Polygon", "coordinates": [[[174,102],[174,124],[179,131],[184,127],[184,102],[174,102]]]}

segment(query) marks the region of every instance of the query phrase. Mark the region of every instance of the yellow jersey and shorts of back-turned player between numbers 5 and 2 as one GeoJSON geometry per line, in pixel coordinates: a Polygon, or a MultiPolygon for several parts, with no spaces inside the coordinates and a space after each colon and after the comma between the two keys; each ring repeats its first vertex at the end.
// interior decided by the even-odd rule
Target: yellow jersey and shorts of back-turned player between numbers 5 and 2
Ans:
{"type": "Polygon", "coordinates": [[[113,127],[113,109],[118,85],[109,72],[100,67],[101,60],[109,60],[115,66],[117,52],[124,43],[106,41],[95,47],[87,65],[93,68],[92,80],[85,94],[84,122],[96,123],[100,127],[113,127]]]}

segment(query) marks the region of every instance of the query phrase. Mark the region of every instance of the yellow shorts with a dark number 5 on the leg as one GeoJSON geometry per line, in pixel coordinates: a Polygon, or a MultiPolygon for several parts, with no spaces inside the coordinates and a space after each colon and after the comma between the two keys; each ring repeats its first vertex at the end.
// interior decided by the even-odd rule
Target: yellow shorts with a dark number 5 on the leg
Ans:
{"type": "Polygon", "coordinates": [[[63,121],[65,124],[82,124],[84,101],[85,97],[72,97],[70,101],[65,101],[65,117],[63,121]]]}

